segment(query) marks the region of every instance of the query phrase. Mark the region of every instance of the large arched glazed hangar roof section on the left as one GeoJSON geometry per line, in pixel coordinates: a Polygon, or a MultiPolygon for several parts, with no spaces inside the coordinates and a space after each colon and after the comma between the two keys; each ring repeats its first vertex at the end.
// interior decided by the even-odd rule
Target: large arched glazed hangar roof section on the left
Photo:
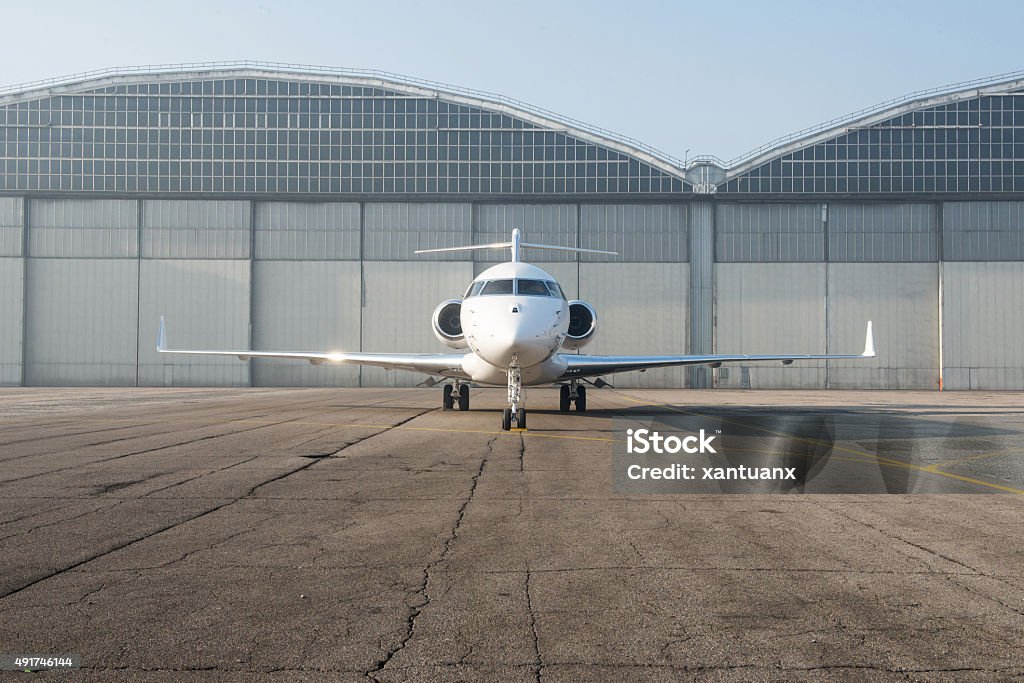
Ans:
{"type": "Polygon", "coordinates": [[[4,145],[2,190],[691,191],[679,160],[507,97],[268,62],[111,69],[0,88],[4,145]]]}

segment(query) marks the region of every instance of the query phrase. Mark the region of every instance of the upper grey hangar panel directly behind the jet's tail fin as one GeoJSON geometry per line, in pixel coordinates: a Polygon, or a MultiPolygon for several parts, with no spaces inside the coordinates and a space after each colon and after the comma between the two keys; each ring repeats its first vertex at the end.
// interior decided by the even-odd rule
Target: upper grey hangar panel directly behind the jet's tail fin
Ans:
{"type": "MultiPolygon", "coordinates": [[[[512,230],[522,231],[523,242],[556,247],[575,247],[578,230],[574,204],[477,204],[474,205],[476,244],[508,242],[512,230]]],[[[480,263],[497,263],[509,259],[508,252],[479,251],[473,258],[480,263]]],[[[531,263],[564,263],[575,261],[577,255],[557,251],[528,250],[524,260],[531,263]]]]}

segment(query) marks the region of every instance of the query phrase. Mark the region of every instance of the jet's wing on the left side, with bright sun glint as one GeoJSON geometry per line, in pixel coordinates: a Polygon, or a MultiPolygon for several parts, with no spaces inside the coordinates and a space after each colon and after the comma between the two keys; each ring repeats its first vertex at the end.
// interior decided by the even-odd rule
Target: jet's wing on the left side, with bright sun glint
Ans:
{"type": "Polygon", "coordinates": [[[469,376],[462,369],[464,353],[361,353],[357,351],[256,351],[252,349],[232,351],[168,348],[167,325],[163,316],[160,317],[157,350],[161,353],[189,355],[233,355],[240,360],[249,360],[250,358],[292,358],[293,360],[307,360],[314,366],[324,362],[347,362],[358,366],[375,366],[388,370],[410,370],[426,375],[469,379],[469,376]]]}

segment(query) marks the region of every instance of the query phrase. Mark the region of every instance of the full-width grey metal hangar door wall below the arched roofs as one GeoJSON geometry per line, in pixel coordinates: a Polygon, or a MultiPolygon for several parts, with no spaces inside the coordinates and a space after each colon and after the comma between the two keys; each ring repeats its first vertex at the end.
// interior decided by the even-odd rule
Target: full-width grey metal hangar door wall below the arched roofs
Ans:
{"type": "MultiPolygon", "coordinates": [[[[597,306],[589,351],[812,351],[821,334],[831,352],[857,351],[864,322],[876,322],[876,361],[723,369],[719,386],[818,387],[825,370],[833,387],[934,387],[941,251],[945,385],[1024,389],[1024,203],[852,201],[823,210],[0,198],[0,383],[355,384],[351,368],[158,356],[157,321],[168,315],[181,346],[442,351],[433,308],[507,255],[413,252],[506,241],[513,227],[528,241],[620,252],[526,255],[597,306]]],[[[698,369],[690,384],[708,377],[698,369]]],[[[421,379],[361,373],[365,385],[421,379]]],[[[615,382],[678,386],[683,374],[615,382]]]]}

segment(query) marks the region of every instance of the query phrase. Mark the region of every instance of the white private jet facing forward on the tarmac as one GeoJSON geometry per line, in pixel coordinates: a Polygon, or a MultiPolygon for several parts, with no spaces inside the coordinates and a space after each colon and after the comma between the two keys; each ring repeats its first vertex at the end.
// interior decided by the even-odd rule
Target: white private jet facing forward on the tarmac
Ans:
{"type": "Polygon", "coordinates": [[[610,254],[596,249],[577,249],[522,241],[518,228],[511,242],[470,245],[445,249],[425,249],[417,254],[459,252],[477,249],[509,249],[511,260],[481,272],[462,299],[442,301],[431,318],[433,333],[454,353],[364,353],[257,350],[172,349],[167,346],[164,317],[160,318],[157,350],[161,353],[238,356],[250,358],[292,358],[313,365],[344,362],[409,370],[445,378],[442,408],[445,411],[469,410],[470,382],[507,386],[508,407],[502,412],[502,429],[515,424],[526,428],[525,386],[560,385],[558,408],[568,412],[572,405],[587,410],[587,387],[605,386],[602,376],[673,366],[710,366],[726,362],[794,360],[842,360],[874,356],[871,323],[867,322],[864,350],[859,354],[805,355],[798,353],[746,355],[586,355],[580,349],[594,339],[597,311],[580,300],[566,300],[558,282],[545,270],[521,259],[524,249],[544,249],[580,254],[610,254]],[[591,379],[593,378],[593,379],[591,379]],[[451,380],[451,381],[447,381],[451,380]]]}

